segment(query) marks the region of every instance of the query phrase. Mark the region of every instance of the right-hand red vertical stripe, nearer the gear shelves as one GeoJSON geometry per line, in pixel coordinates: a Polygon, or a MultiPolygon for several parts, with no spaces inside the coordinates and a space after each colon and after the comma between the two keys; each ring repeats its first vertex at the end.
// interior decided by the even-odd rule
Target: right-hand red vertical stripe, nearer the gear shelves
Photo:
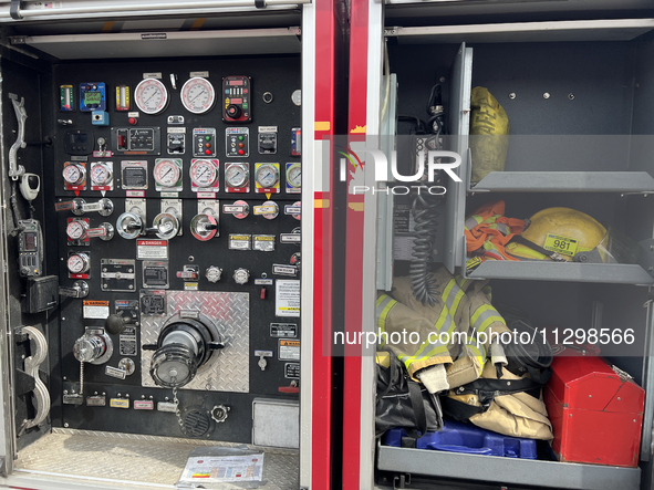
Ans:
{"type": "MultiPolygon", "coordinates": [[[[350,13],[350,107],[347,133],[366,125],[368,0],[352,0],[350,13]]],[[[357,134],[357,137],[360,134],[357,134]]],[[[361,136],[364,136],[361,134],[361,136]]],[[[352,138],[351,138],[352,139],[352,138]]],[[[347,173],[351,179],[350,173],[347,173]]],[[[361,332],[363,196],[347,195],[345,333],[361,332]]],[[[368,278],[370,280],[370,278],[368,278]]],[[[343,402],[343,490],[359,490],[361,456],[361,345],[346,345],[343,402]]]]}

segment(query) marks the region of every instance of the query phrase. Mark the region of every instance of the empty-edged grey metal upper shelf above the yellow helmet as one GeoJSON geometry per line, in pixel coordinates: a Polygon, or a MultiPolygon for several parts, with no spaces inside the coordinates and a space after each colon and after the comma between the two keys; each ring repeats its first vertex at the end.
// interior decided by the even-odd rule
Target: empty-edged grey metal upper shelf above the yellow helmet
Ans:
{"type": "Polygon", "coordinates": [[[646,171],[491,171],[471,192],[654,192],[646,171]]]}

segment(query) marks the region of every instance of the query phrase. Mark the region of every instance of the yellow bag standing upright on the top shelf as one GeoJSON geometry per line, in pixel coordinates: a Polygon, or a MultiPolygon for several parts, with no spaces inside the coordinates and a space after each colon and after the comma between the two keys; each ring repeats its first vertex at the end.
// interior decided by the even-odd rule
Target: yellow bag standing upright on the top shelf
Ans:
{"type": "Polygon", "coordinates": [[[502,171],[509,149],[509,116],[488,88],[473,88],[470,101],[470,150],[473,183],[491,171],[502,171]]]}

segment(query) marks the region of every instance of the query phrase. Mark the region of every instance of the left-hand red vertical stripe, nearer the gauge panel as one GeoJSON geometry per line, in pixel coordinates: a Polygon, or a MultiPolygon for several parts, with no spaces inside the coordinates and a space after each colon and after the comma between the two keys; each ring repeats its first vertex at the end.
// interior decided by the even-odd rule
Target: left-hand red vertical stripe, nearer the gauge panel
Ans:
{"type": "MultiPolygon", "coordinates": [[[[329,122],[329,131],[314,132],[314,138],[333,134],[335,105],[335,6],[334,0],[314,0],[315,8],[315,122],[329,122]]],[[[323,161],[331,165],[331,159],[323,161]]],[[[320,169],[318,169],[320,171],[320,169]]],[[[331,174],[331,173],[330,173],[331,174]]],[[[313,242],[313,393],[311,483],[315,489],[331,488],[332,471],[332,221],[333,187],[315,192],[328,207],[315,208],[313,242]]],[[[320,189],[322,190],[322,189],[320,189]]]]}

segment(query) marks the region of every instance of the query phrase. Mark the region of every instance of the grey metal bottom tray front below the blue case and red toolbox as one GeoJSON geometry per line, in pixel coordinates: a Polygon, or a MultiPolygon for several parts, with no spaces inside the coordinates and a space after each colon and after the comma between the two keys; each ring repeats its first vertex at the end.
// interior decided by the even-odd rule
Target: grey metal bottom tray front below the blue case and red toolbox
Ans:
{"type": "Polygon", "coordinates": [[[558,461],[499,458],[425,449],[378,446],[377,468],[411,475],[461,478],[504,484],[532,484],[556,489],[637,489],[640,468],[580,465],[558,461]]]}

